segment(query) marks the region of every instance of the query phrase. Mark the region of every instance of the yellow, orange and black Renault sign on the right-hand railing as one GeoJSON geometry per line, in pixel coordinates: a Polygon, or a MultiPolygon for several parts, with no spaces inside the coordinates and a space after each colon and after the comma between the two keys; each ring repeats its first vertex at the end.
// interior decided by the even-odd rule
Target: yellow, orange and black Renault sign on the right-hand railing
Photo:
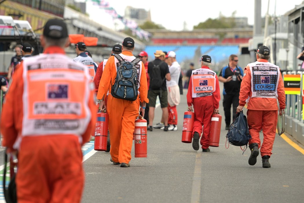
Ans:
{"type": "Polygon", "coordinates": [[[285,94],[301,93],[301,75],[284,75],[285,94]]]}

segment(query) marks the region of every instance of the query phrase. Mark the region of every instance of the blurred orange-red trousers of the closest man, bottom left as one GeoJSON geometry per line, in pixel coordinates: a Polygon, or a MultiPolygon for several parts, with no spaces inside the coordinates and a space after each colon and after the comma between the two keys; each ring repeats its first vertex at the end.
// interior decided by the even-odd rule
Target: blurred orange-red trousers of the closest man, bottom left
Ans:
{"type": "Polygon", "coordinates": [[[77,136],[22,138],[16,175],[18,203],[78,203],[84,186],[77,136]]]}

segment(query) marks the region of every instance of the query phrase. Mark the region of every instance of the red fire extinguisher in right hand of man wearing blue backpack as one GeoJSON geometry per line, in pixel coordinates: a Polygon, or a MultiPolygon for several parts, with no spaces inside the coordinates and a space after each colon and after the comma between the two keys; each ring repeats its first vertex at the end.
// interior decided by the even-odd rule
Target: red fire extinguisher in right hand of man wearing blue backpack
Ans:
{"type": "Polygon", "coordinates": [[[135,120],[134,134],[135,157],[147,157],[147,120],[137,118],[135,120]]]}

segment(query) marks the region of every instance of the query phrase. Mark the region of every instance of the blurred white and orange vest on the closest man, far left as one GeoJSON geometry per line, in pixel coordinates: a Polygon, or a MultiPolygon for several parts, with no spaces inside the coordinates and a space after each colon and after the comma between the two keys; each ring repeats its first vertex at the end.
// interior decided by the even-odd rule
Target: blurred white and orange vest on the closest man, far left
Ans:
{"type": "Polygon", "coordinates": [[[91,119],[88,68],[63,54],[42,54],[23,61],[23,136],[76,135],[82,142],[91,119]],[[84,85],[85,84],[85,85],[84,85]]]}

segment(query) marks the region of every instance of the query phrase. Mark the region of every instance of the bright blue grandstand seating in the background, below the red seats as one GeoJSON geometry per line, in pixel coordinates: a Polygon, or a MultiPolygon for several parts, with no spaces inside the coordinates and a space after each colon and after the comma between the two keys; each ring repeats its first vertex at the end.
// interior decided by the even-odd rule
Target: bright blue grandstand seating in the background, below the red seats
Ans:
{"type": "Polygon", "coordinates": [[[149,61],[152,61],[154,59],[154,52],[156,50],[162,50],[162,51],[174,51],[176,53],[176,60],[178,63],[181,63],[185,60],[193,60],[195,56],[195,51],[199,49],[201,52],[201,55],[208,54],[212,58],[212,63],[221,62],[224,60],[227,60],[227,58],[230,56],[230,54],[238,54],[239,47],[238,45],[210,45],[210,46],[183,46],[183,45],[177,45],[177,46],[157,46],[157,45],[151,45],[147,46],[145,51],[149,55],[149,61]]]}

